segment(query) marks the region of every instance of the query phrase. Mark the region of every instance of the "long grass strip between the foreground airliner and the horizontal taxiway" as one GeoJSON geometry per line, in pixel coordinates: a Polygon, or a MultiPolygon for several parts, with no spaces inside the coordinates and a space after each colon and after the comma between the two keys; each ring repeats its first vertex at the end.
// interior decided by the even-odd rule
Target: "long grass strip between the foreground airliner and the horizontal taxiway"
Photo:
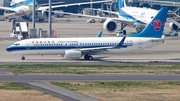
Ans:
{"type": "Polygon", "coordinates": [[[2,65],[14,74],[180,74],[180,65],[2,65]]]}

